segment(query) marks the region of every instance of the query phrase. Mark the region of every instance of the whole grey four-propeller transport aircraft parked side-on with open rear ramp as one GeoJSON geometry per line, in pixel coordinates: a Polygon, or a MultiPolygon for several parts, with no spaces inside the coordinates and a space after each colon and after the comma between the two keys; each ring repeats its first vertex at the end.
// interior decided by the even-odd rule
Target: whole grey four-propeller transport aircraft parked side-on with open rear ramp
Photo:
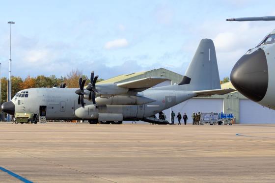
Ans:
{"type": "Polygon", "coordinates": [[[156,113],[197,96],[226,94],[233,89],[220,89],[220,77],[214,43],[202,39],[184,78],[178,85],[152,86],[165,78],[143,78],[123,83],[96,84],[98,76],[91,74],[91,83],[84,88],[30,88],[18,92],[2,111],[33,112],[48,120],[89,120],[92,123],[118,124],[122,120],[142,120],[161,124],[156,113]],[[77,89],[77,90],[76,90],[77,89]],[[77,98],[77,95],[79,97],[77,98]]]}

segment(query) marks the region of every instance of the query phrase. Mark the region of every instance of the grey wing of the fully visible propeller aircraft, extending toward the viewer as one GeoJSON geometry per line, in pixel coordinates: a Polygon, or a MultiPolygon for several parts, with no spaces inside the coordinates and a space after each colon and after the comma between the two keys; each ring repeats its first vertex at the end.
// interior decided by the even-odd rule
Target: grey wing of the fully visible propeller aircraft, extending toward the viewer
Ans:
{"type": "Polygon", "coordinates": [[[169,79],[159,78],[159,77],[150,77],[150,78],[143,78],[143,79],[137,79],[133,81],[118,83],[117,86],[123,87],[123,88],[129,88],[129,90],[141,89],[141,91],[143,91],[161,82],[164,82],[166,80],[169,80],[169,79]]]}

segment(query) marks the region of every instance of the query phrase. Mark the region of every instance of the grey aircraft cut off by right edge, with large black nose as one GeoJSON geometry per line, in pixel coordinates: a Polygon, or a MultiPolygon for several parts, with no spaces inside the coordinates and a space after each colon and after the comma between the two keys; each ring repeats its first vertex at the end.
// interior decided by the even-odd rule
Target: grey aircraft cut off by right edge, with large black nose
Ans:
{"type": "MultiPolygon", "coordinates": [[[[275,21],[275,16],[245,17],[227,21],[275,21]]],[[[230,80],[248,99],[275,109],[275,29],[249,49],[233,67],[230,80]]]]}

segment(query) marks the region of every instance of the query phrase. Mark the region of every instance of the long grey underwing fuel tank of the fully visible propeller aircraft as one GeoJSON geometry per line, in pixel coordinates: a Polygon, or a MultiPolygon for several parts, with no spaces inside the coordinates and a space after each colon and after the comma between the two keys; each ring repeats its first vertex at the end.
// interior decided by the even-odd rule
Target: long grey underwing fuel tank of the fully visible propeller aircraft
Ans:
{"type": "Polygon", "coordinates": [[[96,104],[100,105],[143,105],[155,102],[153,99],[142,96],[113,96],[109,98],[97,97],[96,104]]]}

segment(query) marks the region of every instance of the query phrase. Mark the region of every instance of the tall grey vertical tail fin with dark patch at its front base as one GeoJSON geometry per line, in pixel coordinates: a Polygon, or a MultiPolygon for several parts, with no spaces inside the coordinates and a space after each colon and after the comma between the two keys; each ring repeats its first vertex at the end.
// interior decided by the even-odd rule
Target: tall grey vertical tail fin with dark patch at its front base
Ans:
{"type": "Polygon", "coordinates": [[[211,39],[202,39],[192,62],[179,83],[184,90],[220,89],[220,76],[214,43],[211,39]]]}

